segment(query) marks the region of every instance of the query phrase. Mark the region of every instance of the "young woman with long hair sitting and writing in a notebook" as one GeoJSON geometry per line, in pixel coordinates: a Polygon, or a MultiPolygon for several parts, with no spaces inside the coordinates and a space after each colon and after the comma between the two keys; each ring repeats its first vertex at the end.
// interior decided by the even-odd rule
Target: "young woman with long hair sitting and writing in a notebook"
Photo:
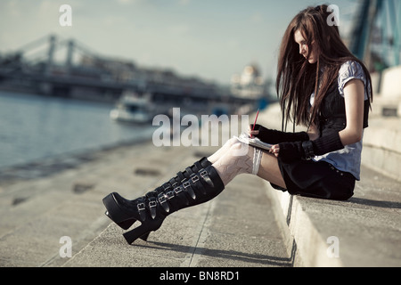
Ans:
{"type": "Polygon", "coordinates": [[[266,179],[274,188],[321,199],[349,199],[360,179],[362,137],[372,101],[371,77],[348,51],[339,29],[329,25],[326,5],[299,12],[284,33],[276,89],[283,122],[304,125],[289,133],[256,125],[250,135],[274,144],[269,152],[236,138],[177,173],[167,183],[129,200],[118,193],[103,199],[106,215],[128,243],[146,240],[173,212],[216,197],[239,174],[266,179]]]}

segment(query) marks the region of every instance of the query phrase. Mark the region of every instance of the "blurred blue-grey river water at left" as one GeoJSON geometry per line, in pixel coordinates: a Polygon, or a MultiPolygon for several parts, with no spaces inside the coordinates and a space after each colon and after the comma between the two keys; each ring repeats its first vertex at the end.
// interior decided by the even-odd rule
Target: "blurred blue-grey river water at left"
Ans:
{"type": "Polygon", "coordinates": [[[110,120],[111,108],[0,91],[0,168],[151,138],[151,123],[116,123],[110,120]]]}

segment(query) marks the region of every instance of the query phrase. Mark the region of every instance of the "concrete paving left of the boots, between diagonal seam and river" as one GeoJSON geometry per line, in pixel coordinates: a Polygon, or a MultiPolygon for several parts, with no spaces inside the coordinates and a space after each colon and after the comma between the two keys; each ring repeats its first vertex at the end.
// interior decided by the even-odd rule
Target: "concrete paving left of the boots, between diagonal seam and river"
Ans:
{"type": "Polygon", "coordinates": [[[110,224],[102,205],[106,194],[115,190],[143,194],[171,171],[160,165],[168,165],[168,161],[179,165],[188,155],[183,150],[160,149],[153,154],[151,150],[154,148],[147,143],[104,151],[97,159],[58,174],[3,184],[0,265],[65,263],[59,253],[61,237],[70,237],[73,253],[77,253],[110,224]],[[151,169],[159,170],[148,175],[151,169]]]}

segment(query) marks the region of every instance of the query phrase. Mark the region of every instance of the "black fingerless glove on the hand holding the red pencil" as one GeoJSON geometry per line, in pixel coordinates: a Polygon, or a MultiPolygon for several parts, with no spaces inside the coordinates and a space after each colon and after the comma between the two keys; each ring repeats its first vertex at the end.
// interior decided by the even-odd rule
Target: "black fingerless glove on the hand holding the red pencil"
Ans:
{"type": "MultiPolygon", "coordinates": [[[[252,128],[253,125],[250,125],[252,128]]],[[[260,139],[262,142],[267,142],[271,144],[276,144],[279,142],[298,142],[298,141],[308,141],[309,136],[306,132],[299,133],[286,133],[280,132],[276,130],[271,130],[266,128],[265,126],[255,125],[254,130],[258,130],[259,134],[255,136],[260,139]]]]}

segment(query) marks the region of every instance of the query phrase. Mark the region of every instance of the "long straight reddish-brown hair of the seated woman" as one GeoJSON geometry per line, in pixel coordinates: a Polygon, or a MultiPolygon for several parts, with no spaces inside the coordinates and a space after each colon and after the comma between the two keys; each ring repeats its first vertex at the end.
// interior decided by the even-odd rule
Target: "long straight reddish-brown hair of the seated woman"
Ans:
{"type": "Polygon", "coordinates": [[[325,4],[308,7],[291,20],[282,37],[275,87],[282,106],[282,119],[286,122],[290,119],[295,125],[304,126],[309,126],[311,122],[317,123],[323,97],[335,83],[341,64],[346,61],[357,61],[361,64],[368,82],[365,90],[372,100],[368,70],[342,42],[338,26],[328,24],[329,15],[331,12],[328,12],[325,4]],[[299,54],[299,45],[294,40],[297,30],[307,40],[309,54],[314,42],[314,52],[318,55],[315,63],[310,64],[299,54]],[[319,72],[323,67],[323,72],[319,72]],[[309,98],[313,92],[314,107],[309,110],[309,98]]]}

